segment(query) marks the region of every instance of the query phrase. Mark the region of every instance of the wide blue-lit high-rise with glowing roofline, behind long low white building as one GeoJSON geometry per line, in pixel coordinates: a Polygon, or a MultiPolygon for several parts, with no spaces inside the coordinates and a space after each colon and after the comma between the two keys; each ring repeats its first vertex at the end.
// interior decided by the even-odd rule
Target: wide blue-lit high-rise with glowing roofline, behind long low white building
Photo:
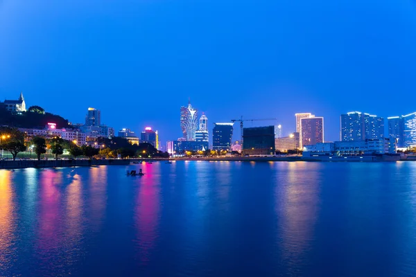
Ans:
{"type": "Polygon", "coordinates": [[[384,118],[352,111],[341,114],[341,141],[384,138],[384,118]]]}

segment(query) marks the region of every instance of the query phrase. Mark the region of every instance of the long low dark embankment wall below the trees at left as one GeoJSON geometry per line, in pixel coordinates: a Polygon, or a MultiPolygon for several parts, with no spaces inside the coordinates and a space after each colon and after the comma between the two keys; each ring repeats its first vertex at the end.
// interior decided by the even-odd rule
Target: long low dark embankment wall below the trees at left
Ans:
{"type": "Polygon", "coordinates": [[[64,168],[71,166],[127,166],[130,160],[48,160],[0,161],[0,169],[64,168]]]}

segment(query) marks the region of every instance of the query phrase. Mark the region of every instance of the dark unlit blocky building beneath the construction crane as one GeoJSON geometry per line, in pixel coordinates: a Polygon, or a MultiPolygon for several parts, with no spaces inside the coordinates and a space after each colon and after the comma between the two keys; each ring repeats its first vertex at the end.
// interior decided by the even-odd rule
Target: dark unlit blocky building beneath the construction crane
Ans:
{"type": "Polygon", "coordinates": [[[243,154],[274,154],[275,126],[243,129],[243,154]]]}

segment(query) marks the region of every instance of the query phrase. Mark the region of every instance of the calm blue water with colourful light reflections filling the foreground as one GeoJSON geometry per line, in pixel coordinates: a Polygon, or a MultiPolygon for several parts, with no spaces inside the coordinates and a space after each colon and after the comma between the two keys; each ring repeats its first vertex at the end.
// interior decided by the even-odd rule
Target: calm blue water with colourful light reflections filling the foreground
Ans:
{"type": "Polygon", "coordinates": [[[416,162],[0,170],[19,275],[416,276],[416,162]]]}

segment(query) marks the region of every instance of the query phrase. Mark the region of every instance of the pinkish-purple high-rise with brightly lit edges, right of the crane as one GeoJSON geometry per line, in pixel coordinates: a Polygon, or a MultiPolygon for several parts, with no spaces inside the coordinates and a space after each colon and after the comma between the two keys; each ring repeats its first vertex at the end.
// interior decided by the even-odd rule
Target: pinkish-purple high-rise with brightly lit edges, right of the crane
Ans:
{"type": "Polygon", "coordinates": [[[300,119],[300,147],[324,142],[324,118],[308,117],[300,119]]]}

